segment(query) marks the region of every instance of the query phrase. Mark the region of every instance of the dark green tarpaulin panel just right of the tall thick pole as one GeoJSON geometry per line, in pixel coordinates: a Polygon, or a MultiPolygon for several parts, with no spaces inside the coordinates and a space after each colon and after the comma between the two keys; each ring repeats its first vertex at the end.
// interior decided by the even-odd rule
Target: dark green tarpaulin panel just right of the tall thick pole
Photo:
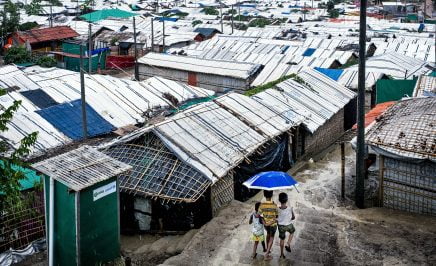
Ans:
{"type": "Polygon", "coordinates": [[[381,79],[376,83],[376,103],[401,100],[404,96],[412,96],[416,79],[413,80],[391,80],[381,79]]]}

